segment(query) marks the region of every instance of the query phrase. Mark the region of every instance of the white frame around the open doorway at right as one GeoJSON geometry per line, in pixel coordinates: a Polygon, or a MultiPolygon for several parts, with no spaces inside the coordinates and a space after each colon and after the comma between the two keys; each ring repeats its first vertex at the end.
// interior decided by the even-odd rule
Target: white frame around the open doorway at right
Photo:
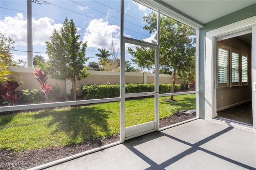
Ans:
{"type": "MultiPolygon", "coordinates": [[[[256,82],[256,16],[223,26],[221,28],[206,32],[205,51],[205,119],[212,121],[216,117],[216,67],[214,55],[216,55],[217,38],[236,34],[252,29],[252,83],[256,82]]],[[[253,89],[253,85],[252,85],[253,89]]],[[[256,92],[252,90],[253,103],[253,127],[256,128],[256,92]]]]}

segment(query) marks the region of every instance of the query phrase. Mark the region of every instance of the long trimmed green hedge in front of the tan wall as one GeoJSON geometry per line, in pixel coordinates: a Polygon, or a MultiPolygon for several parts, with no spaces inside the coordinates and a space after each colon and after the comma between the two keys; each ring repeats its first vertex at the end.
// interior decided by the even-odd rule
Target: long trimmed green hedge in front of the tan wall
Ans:
{"type": "MultiPolygon", "coordinates": [[[[151,84],[126,84],[125,93],[141,93],[154,91],[154,83],[151,84]]],[[[180,91],[181,85],[175,85],[175,91],[180,91]]],[[[120,96],[120,85],[84,85],[82,86],[84,98],[86,99],[104,99],[120,96]]],[[[172,84],[159,84],[159,92],[171,93],[172,84]]]]}

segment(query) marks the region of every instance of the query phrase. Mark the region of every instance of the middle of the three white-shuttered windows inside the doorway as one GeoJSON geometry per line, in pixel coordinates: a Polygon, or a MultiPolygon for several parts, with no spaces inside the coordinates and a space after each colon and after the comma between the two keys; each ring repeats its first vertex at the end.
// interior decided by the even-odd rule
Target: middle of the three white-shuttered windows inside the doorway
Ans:
{"type": "Polygon", "coordinates": [[[239,50],[230,47],[231,51],[231,83],[239,85],[239,50]]]}

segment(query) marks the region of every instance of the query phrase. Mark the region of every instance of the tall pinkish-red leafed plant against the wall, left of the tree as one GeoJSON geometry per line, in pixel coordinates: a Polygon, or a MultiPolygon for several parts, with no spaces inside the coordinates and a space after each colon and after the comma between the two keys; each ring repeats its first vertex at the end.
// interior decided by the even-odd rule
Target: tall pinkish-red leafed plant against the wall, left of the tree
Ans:
{"type": "Polygon", "coordinates": [[[36,76],[35,78],[37,81],[41,84],[41,92],[44,93],[46,102],[48,103],[48,95],[52,89],[52,86],[47,85],[47,71],[42,72],[42,69],[36,70],[36,73],[34,73],[36,76]]]}

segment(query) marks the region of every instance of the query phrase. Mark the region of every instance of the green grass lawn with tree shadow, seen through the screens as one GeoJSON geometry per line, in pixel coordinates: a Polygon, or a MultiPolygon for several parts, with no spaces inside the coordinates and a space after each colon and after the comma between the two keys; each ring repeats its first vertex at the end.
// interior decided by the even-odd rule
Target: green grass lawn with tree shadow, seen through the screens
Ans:
{"type": "MultiPolygon", "coordinates": [[[[196,107],[195,94],[162,101],[168,98],[160,98],[160,119],[196,107]]],[[[154,98],[127,100],[125,105],[126,127],[154,120],[154,98]]],[[[1,115],[0,130],[0,149],[14,152],[104,139],[120,131],[120,102],[1,115]]]]}

